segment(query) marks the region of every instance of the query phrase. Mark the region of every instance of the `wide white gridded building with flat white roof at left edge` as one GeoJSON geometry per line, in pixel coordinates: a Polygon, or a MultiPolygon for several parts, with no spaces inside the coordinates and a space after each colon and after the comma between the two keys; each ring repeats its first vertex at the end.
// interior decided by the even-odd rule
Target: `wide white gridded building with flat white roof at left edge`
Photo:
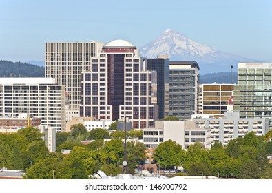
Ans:
{"type": "Polygon", "coordinates": [[[0,78],[0,116],[26,113],[56,132],[65,130],[65,88],[47,78],[0,78]]]}

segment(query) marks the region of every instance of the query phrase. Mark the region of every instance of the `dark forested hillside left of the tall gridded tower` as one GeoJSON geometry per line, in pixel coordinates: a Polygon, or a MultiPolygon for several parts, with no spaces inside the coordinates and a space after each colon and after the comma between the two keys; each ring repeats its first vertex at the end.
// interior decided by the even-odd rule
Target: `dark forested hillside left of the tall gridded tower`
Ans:
{"type": "Polygon", "coordinates": [[[44,77],[44,68],[21,62],[0,60],[0,77],[44,77]]]}

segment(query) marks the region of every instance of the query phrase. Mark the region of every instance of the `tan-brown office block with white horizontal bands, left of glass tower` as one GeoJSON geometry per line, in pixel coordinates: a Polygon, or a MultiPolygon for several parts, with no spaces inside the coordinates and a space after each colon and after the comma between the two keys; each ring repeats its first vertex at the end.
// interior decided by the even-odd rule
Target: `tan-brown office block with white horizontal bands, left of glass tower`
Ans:
{"type": "Polygon", "coordinates": [[[212,114],[215,118],[224,116],[233,90],[234,84],[203,84],[201,114],[212,114]]]}

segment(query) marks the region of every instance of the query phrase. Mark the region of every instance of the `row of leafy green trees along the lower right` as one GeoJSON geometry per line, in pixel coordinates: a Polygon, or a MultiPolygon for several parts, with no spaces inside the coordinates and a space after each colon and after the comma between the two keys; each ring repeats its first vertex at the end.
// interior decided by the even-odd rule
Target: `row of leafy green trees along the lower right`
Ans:
{"type": "Polygon", "coordinates": [[[190,176],[272,179],[272,165],[266,156],[271,153],[272,141],[250,132],[244,138],[233,139],[225,147],[216,143],[211,150],[195,143],[185,151],[174,141],[165,141],[156,148],[154,161],[169,170],[182,165],[190,176]]]}

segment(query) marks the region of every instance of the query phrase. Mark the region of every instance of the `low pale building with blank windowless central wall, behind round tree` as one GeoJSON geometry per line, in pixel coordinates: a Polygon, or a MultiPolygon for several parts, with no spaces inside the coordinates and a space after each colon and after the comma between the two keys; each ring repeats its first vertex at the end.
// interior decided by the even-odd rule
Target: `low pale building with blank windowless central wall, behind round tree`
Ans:
{"type": "Polygon", "coordinates": [[[200,127],[198,121],[155,121],[154,128],[143,129],[143,143],[146,148],[157,148],[171,139],[187,149],[196,142],[211,148],[211,129],[200,127]]]}

